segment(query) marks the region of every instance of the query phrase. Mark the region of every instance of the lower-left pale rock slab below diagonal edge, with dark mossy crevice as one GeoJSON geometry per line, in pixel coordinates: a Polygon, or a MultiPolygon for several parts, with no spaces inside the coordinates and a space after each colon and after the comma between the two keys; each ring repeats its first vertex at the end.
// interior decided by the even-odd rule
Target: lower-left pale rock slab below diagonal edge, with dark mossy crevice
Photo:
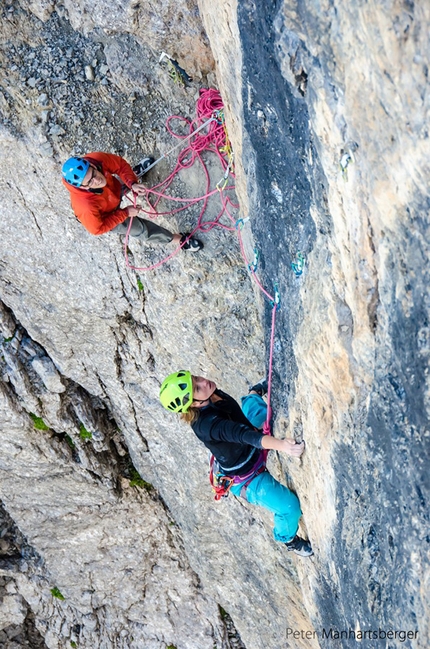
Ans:
{"type": "Polygon", "coordinates": [[[22,619],[10,613],[6,627],[29,606],[48,647],[230,646],[102,401],[21,327],[3,343],[2,367],[2,495],[25,536],[25,547],[3,548],[7,597],[24,598],[22,619]]]}

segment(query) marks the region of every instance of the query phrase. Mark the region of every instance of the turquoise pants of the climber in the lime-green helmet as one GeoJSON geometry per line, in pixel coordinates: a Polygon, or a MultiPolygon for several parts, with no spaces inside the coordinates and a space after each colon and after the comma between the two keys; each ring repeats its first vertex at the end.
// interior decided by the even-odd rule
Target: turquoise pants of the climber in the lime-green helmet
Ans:
{"type": "MultiPolygon", "coordinates": [[[[242,410],[251,424],[261,428],[266,419],[267,405],[258,394],[242,397],[242,410]]],[[[242,485],[233,485],[231,493],[240,496],[242,485]]],[[[302,515],[299,499],[292,491],[263,471],[249,483],[246,489],[246,499],[251,505],[259,505],[274,514],[273,536],[275,541],[288,543],[291,541],[299,526],[302,515]]]]}

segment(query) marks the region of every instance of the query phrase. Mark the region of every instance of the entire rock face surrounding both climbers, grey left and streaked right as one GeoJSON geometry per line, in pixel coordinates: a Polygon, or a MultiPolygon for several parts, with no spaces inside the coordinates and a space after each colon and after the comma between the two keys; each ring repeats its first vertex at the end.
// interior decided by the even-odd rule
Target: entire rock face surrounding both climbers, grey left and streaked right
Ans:
{"type": "MultiPolygon", "coordinates": [[[[1,642],[373,647],[392,632],[387,647],[427,647],[429,10],[90,5],[2,7],[1,642]],[[246,250],[281,295],[274,430],[306,453],[270,467],[300,496],[308,561],[271,539],[269,515],[214,503],[205,450],[158,403],[176,368],[236,397],[264,373],[271,309],[234,232],[137,281],[59,182],[73,152],[170,148],[164,120],[194,115],[214,61],[246,250]]],[[[173,190],[202,186],[184,170],[173,190]]],[[[129,248],[137,265],[162,258],[129,248]]]]}

